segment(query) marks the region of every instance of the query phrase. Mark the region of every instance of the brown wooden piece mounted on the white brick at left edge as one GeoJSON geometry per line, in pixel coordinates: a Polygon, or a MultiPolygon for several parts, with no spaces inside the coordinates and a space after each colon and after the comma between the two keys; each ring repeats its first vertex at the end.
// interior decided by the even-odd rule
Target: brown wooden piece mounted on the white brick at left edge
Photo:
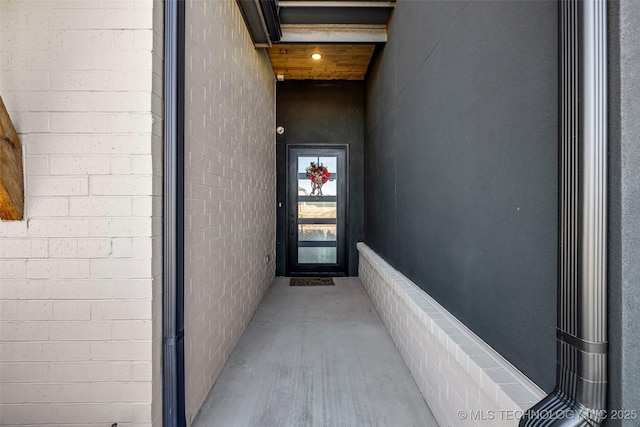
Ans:
{"type": "Polygon", "coordinates": [[[24,214],[22,144],[0,96],[0,219],[21,220],[24,214]]]}

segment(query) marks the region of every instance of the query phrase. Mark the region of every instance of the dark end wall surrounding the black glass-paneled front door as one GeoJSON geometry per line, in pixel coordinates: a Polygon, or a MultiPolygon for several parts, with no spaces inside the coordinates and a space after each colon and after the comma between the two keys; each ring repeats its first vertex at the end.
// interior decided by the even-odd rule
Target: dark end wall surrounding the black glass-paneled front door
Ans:
{"type": "MultiPolygon", "coordinates": [[[[284,170],[286,144],[349,145],[348,274],[357,276],[356,243],[364,238],[364,82],[285,81],[277,84],[276,91],[276,123],[285,128],[276,139],[279,171],[284,170]]],[[[285,196],[284,177],[284,173],[278,174],[278,201],[285,196]]],[[[279,211],[276,274],[284,274],[286,218],[284,209],[279,211]]]]}

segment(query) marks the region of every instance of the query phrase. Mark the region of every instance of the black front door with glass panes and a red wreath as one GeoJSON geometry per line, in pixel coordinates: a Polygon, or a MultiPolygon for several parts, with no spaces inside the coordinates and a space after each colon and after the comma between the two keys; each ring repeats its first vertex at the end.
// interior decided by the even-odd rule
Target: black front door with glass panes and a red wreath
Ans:
{"type": "Polygon", "coordinates": [[[287,164],[287,274],[346,274],[347,147],[289,146],[287,164]]]}

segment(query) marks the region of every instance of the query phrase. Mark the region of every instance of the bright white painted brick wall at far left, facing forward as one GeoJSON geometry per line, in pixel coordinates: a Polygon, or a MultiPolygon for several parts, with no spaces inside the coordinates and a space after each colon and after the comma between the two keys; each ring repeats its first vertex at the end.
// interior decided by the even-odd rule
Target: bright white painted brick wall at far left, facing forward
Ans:
{"type": "Polygon", "coordinates": [[[0,222],[2,425],[161,424],[162,16],[0,2],[26,184],[0,222]]]}

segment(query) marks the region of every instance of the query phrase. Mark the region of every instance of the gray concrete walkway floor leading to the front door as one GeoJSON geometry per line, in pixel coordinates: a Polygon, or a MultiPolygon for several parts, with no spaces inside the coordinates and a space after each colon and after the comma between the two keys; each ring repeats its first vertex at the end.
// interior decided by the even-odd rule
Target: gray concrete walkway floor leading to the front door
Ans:
{"type": "Polygon", "coordinates": [[[437,426],[357,278],[277,277],[193,426],[437,426]]]}

